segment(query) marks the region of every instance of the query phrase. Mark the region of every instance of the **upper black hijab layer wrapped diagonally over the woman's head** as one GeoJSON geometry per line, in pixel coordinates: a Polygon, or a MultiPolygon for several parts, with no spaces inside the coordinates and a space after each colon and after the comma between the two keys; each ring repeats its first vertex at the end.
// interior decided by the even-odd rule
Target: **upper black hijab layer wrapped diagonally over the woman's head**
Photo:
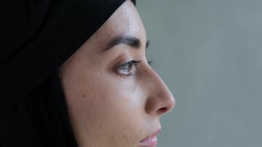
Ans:
{"type": "Polygon", "coordinates": [[[27,1],[0,2],[0,112],[46,79],[124,0],[27,1]]]}

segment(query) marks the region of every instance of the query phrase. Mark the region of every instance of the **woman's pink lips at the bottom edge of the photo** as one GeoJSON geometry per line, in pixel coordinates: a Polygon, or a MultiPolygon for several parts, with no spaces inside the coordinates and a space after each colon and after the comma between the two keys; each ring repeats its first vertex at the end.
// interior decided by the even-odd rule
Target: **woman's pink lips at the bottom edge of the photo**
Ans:
{"type": "Polygon", "coordinates": [[[141,141],[139,141],[140,146],[146,147],[156,147],[157,146],[157,134],[161,132],[161,128],[157,129],[154,133],[145,137],[141,141]]]}

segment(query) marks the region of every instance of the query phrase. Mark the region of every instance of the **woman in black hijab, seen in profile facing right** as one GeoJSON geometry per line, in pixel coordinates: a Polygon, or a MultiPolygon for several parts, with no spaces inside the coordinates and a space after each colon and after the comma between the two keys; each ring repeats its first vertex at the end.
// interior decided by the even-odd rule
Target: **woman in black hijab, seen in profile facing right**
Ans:
{"type": "Polygon", "coordinates": [[[156,146],[174,98],[145,59],[132,1],[28,7],[23,39],[1,48],[1,146],[156,146]]]}

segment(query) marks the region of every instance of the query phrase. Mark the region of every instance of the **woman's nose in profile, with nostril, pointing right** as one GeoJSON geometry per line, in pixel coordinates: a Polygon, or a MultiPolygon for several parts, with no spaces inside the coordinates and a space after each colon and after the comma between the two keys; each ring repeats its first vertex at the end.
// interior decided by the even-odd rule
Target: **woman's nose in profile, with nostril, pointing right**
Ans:
{"type": "Polygon", "coordinates": [[[161,77],[154,70],[148,71],[148,97],[145,102],[145,112],[161,116],[174,108],[175,100],[161,77]]]}

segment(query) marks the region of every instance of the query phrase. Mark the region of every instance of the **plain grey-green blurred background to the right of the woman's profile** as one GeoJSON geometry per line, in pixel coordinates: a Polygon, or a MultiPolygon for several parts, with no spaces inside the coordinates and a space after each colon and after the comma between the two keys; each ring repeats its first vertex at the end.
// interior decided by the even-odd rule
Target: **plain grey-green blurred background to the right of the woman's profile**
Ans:
{"type": "Polygon", "coordinates": [[[262,1],[137,0],[176,97],[160,147],[262,146],[262,1]]]}

